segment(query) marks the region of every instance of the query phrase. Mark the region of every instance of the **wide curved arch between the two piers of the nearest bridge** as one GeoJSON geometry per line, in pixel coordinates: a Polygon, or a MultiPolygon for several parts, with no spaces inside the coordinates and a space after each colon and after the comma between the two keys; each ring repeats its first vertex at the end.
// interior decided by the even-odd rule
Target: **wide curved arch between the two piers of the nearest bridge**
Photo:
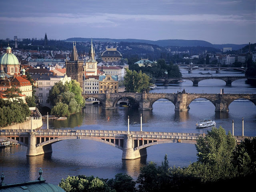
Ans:
{"type": "Polygon", "coordinates": [[[120,149],[120,150],[123,150],[123,148],[122,148],[121,146],[118,146],[118,145],[113,144],[113,143],[111,143],[111,142],[108,142],[108,141],[105,141],[105,140],[102,140],[102,139],[98,139],[98,138],[86,137],[86,136],[59,137],[59,138],[55,138],[55,139],[51,139],[51,140],[42,142],[42,143],[40,143],[40,144],[36,144],[36,147],[45,146],[45,145],[53,144],[53,143],[56,143],[56,142],[59,142],[59,141],[62,141],[62,140],[70,140],[70,139],[93,140],[93,141],[102,142],[102,143],[108,144],[108,145],[110,145],[110,146],[116,147],[116,148],[118,148],[118,149],[120,149]]]}

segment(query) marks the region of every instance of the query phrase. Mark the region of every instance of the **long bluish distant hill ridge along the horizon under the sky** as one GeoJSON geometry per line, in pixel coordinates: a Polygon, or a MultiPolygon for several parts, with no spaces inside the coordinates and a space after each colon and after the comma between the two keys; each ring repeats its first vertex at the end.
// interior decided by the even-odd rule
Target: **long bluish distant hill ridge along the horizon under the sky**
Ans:
{"type": "MultiPolygon", "coordinates": [[[[238,50],[246,46],[247,44],[211,44],[210,42],[203,41],[203,40],[181,40],[181,39],[168,39],[168,40],[141,40],[141,39],[109,39],[109,38],[94,38],[94,41],[99,42],[134,42],[134,43],[147,43],[158,45],[161,47],[168,47],[168,46],[178,46],[178,47],[212,47],[217,49],[223,49],[224,47],[232,47],[232,50],[238,50]]],[[[91,41],[91,38],[68,38],[64,41],[76,41],[76,42],[85,42],[91,41]]]]}

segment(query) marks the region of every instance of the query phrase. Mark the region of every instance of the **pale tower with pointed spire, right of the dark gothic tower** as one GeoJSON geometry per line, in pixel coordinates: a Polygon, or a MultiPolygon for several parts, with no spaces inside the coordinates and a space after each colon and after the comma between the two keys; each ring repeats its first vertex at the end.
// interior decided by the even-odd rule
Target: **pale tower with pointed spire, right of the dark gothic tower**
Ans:
{"type": "Polygon", "coordinates": [[[88,60],[85,62],[84,75],[97,75],[97,61],[94,59],[94,48],[91,45],[90,54],[88,60]]]}

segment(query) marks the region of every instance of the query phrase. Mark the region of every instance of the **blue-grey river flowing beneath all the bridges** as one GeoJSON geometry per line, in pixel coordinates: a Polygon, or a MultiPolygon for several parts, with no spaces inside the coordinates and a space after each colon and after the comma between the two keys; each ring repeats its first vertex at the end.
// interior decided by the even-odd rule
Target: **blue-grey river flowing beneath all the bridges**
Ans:
{"type": "MultiPolygon", "coordinates": [[[[184,74],[183,76],[190,75],[184,74]]],[[[217,75],[217,74],[216,74],[217,75]]],[[[241,74],[239,75],[241,76],[241,74]]],[[[222,80],[204,80],[198,86],[192,86],[191,81],[161,86],[150,92],[173,93],[183,89],[189,93],[256,93],[256,87],[236,80],[232,86],[226,86],[222,80]]],[[[203,99],[197,99],[189,105],[190,110],[174,111],[174,104],[168,100],[158,100],[153,104],[153,110],[138,110],[118,107],[114,110],[102,110],[101,106],[86,106],[78,114],[69,116],[67,120],[49,120],[49,128],[55,129],[97,129],[97,130],[127,130],[127,117],[130,116],[130,130],[140,130],[140,114],[142,113],[142,130],[161,132],[203,133],[211,128],[196,129],[196,122],[210,118],[216,121],[216,126],[222,126],[226,132],[242,134],[242,118],[244,118],[244,135],[256,136],[256,106],[248,100],[236,100],[229,106],[229,112],[214,112],[215,106],[203,99]],[[109,120],[108,120],[109,117],[109,120]]],[[[42,128],[46,128],[46,122],[42,128]]],[[[148,162],[161,165],[164,155],[168,155],[169,166],[188,166],[197,160],[194,144],[171,143],[159,144],[147,148],[148,156],[136,160],[122,160],[122,150],[91,140],[63,140],[52,144],[52,154],[27,157],[26,147],[13,145],[0,148],[1,171],[4,172],[6,184],[36,180],[38,170],[42,167],[42,176],[46,182],[59,184],[67,176],[86,175],[99,178],[114,178],[115,174],[123,172],[138,177],[140,168],[148,162]]]]}

